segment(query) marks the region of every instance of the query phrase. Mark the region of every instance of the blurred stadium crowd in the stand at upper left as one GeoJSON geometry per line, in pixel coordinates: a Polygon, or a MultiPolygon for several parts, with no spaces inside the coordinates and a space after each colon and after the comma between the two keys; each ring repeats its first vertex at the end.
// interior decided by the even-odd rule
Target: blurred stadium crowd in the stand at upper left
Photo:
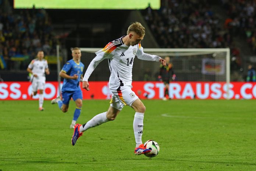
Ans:
{"type": "Polygon", "coordinates": [[[45,10],[13,10],[7,0],[0,1],[0,56],[7,69],[25,69],[38,51],[50,55],[58,43],[45,10]]]}

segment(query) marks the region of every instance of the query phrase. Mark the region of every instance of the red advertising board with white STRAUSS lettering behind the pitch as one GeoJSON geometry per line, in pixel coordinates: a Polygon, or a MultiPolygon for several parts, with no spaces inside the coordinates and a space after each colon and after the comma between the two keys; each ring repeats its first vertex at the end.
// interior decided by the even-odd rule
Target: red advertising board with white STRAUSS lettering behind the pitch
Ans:
{"type": "MultiPolygon", "coordinates": [[[[89,82],[90,91],[82,90],[83,99],[110,99],[111,91],[107,81],[89,82]]],[[[82,85],[82,84],[81,84],[82,85]]],[[[141,99],[161,99],[164,97],[164,84],[161,82],[132,82],[132,90],[141,99]]],[[[230,88],[231,99],[256,99],[256,83],[252,82],[171,82],[169,95],[173,99],[225,99],[230,88]]],[[[58,83],[46,82],[45,99],[57,96],[58,83]]],[[[0,100],[31,100],[30,82],[1,82],[0,100]]],[[[38,95],[33,97],[38,99],[38,95]]]]}

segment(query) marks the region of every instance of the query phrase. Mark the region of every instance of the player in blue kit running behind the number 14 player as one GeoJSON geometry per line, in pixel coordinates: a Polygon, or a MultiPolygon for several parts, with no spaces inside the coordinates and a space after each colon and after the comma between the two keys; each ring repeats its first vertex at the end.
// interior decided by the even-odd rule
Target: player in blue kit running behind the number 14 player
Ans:
{"type": "Polygon", "coordinates": [[[72,49],[73,59],[69,60],[60,71],[60,77],[64,78],[63,86],[61,89],[62,100],[60,97],[51,100],[51,104],[58,103],[58,107],[63,112],[68,111],[68,104],[71,97],[75,101],[76,109],[74,117],[70,125],[70,129],[74,129],[75,123],[81,113],[82,109],[82,91],[80,88],[80,78],[83,78],[84,65],[80,62],[81,50],[79,48],[72,49]]]}

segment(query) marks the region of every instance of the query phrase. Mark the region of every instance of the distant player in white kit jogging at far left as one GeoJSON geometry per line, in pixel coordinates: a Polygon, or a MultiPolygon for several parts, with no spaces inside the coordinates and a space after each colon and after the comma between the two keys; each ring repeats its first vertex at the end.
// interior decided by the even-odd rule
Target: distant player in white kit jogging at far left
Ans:
{"type": "Polygon", "coordinates": [[[50,74],[47,60],[43,59],[43,51],[38,51],[37,59],[33,59],[28,65],[27,71],[31,73],[32,93],[35,96],[39,90],[39,110],[43,111],[43,91],[45,90],[45,73],[50,74]]]}

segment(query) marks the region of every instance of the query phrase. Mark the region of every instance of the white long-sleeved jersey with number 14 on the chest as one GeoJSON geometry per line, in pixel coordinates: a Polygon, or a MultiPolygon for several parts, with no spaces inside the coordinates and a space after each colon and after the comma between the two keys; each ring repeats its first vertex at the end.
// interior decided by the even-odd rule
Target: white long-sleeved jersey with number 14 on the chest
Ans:
{"type": "Polygon", "coordinates": [[[88,66],[83,81],[88,81],[93,70],[103,59],[108,59],[111,72],[109,88],[110,90],[117,90],[120,86],[132,85],[132,66],[135,56],[142,60],[159,62],[160,57],[144,53],[141,44],[135,46],[125,45],[122,41],[123,37],[109,42],[106,47],[96,52],[97,56],[88,66]]]}

